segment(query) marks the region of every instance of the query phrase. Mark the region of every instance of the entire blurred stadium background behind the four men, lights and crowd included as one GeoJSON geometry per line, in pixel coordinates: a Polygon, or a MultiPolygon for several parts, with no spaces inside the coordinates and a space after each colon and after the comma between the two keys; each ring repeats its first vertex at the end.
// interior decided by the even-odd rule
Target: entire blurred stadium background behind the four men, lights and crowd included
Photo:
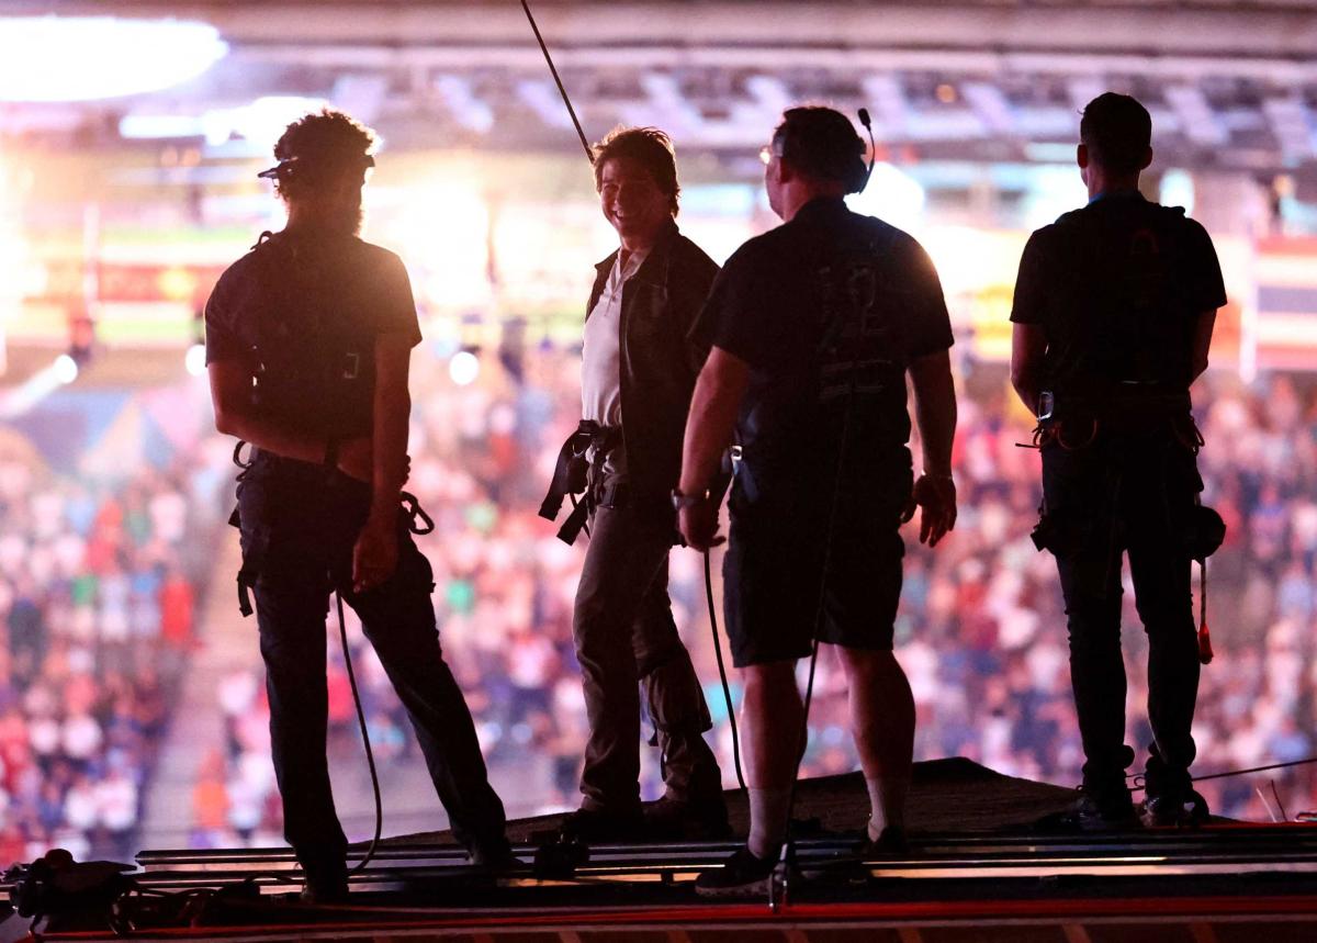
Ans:
{"type": "MultiPolygon", "coordinates": [[[[30,5],[30,4],[29,4],[30,5]]],[[[395,4],[396,5],[396,4],[395,4]]],[[[0,4],[4,7],[4,4],[0,4]]],[[[63,11],[65,5],[61,5],[63,11]]],[[[435,518],[445,655],[514,817],[574,807],[585,738],[570,611],[583,541],[536,516],[579,416],[582,306],[616,245],[516,4],[406,14],[294,0],[105,0],[95,16],[0,11],[0,867],[51,846],[281,844],[263,673],[238,616],[232,441],[213,432],[200,311],[219,273],[283,225],[257,171],[288,121],[344,108],[382,138],[365,236],[404,259],[421,313],[410,489],[435,518]]],[[[1147,196],[1212,233],[1229,304],[1195,389],[1216,660],[1201,776],[1317,752],[1317,0],[601,0],[541,28],[586,133],[670,132],[682,230],[724,259],[777,220],[757,159],[781,111],[873,117],[852,205],[928,250],[956,331],[960,520],[907,532],[898,657],[919,759],[967,756],[1072,785],[1080,749],[1031,423],[1009,392],[1027,234],[1083,204],[1079,109],[1113,90],[1154,122],[1147,196]],[[751,7],[753,3],[753,7],[751,7]],[[639,12],[637,12],[639,11],[639,12]]],[[[394,11],[399,12],[399,11],[394,11]]],[[[720,594],[720,557],[714,554],[720,594]]],[[[703,561],[670,594],[735,785],[703,561]]],[[[801,587],[801,591],[810,591],[801,587]]],[[[1146,643],[1125,591],[1127,741],[1146,749],[1146,643]]],[[[337,641],[335,794],[373,802],[337,641]]],[[[348,614],[390,834],[441,828],[408,723],[348,614]]],[[[734,699],[739,698],[731,678],[734,699]]],[[[647,797],[657,756],[643,751],[647,797]]],[[[838,665],[819,665],[807,776],[856,768],[838,665]]],[[[1135,768],[1138,772],[1141,767],[1135,768]]],[[[1317,765],[1202,784],[1268,821],[1317,807],[1317,765]]],[[[1137,785],[1137,784],[1135,784],[1137,785]]]]}

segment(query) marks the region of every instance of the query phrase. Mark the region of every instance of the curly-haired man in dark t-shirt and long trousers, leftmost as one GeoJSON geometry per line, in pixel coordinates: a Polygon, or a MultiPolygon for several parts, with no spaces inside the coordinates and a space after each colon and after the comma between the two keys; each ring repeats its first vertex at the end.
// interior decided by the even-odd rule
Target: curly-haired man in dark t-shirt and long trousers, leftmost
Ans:
{"type": "Polygon", "coordinates": [[[373,142],[341,112],[288,125],[262,174],[288,225],[263,233],[205,307],[216,428],[254,446],[238,475],[240,598],[246,615],[255,597],[284,836],[315,902],[348,890],[325,759],[331,591],[361,616],[454,838],[478,864],[510,861],[502,802],[440,653],[433,574],[400,504],[420,329],[402,261],[357,238],[373,142]]]}

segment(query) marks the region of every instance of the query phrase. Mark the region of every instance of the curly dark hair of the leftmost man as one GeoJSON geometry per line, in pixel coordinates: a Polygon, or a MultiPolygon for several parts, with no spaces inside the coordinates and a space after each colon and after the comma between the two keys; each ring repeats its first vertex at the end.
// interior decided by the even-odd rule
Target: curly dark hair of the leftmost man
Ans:
{"type": "Polygon", "coordinates": [[[315,192],[344,170],[374,163],[375,132],[352,116],[324,108],[290,124],[274,145],[275,190],[283,199],[315,192]]]}

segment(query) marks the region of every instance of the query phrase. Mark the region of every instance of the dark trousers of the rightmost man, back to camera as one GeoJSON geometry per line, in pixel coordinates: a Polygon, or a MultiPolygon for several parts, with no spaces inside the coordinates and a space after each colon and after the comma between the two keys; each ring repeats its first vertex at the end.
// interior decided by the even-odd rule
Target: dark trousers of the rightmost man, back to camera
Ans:
{"type": "Polygon", "coordinates": [[[1071,682],[1084,741],[1084,782],[1123,782],[1125,662],[1121,554],[1129,553],[1148,637],[1148,720],[1154,755],[1187,770],[1198,691],[1198,648],[1187,543],[1202,489],[1193,453],[1175,436],[1102,436],[1088,448],[1043,449],[1043,495],[1069,626],[1071,682]]]}

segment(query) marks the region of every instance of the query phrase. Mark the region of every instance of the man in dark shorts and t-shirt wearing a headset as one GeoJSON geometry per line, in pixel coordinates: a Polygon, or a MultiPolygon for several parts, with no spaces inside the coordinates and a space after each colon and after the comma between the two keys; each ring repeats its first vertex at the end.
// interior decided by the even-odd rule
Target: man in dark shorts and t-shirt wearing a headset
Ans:
{"type": "Polygon", "coordinates": [[[910,685],[892,652],[898,533],[923,507],[921,540],[955,523],[951,323],[915,240],[847,209],[864,145],[830,108],[793,108],[765,149],[784,225],[727,261],[695,324],[711,348],[686,423],[673,495],[687,544],[715,537],[709,486],[735,429],[739,460],[723,565],[727,635],[743,669],[751,832],[703,875],[703,894],[757,892],[785,836],[803,751],[795,662],[835,647],[872,801],[868,842],[902,844],[914,744],[910,685]],[[923,473],[906,448],[914,383],[923,473]]]}

